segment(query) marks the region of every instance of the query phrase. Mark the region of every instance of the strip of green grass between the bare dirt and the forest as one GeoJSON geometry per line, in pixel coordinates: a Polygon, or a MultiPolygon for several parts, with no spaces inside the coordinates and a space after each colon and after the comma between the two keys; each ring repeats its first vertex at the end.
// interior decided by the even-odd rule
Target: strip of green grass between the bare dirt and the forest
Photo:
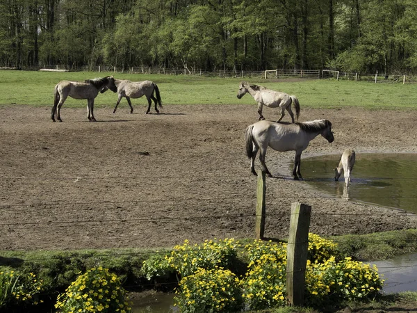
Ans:
{"type": "MultiPolygon", "coordinates": [[[[131,81],[152,80],[161,90],[163,104],[255,104],[250,95],[237,99],[242,79],[173,76],[163,74],[121,74],[98,72],[26,72],[0,71],[0,105],[28,104],[52,106],[54,86],[67,79],[83,81],[113,75],[131,81]]],[[[401,83],[369,83],[364,81],[304,80],[273,81],[245,79],[272,90],[296,95],[301,108],[339,108],[361,106],[367,109],[417,109],[417,86],[401,83]]],[[[108,91],[99,95],[96,106],[113,106],[117,95],[108,91]]],[[[134,99],[133,105],[146,104],[146,99],[134,99]]],[[[64,106],[84,107],[85,101],[67,99],[64,106]]],[[[120,107],[127,106],[122,100],[120,107]]]]}

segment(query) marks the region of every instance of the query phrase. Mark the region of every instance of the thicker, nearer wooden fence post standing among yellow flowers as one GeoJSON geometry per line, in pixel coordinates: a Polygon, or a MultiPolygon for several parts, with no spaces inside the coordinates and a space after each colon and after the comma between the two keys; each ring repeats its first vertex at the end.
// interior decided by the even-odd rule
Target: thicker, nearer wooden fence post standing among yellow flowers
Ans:
{"type": "Polygon", "coordinates": [[[299,202],[291,204],[290,235],[287,244],[286,290],[290,305],[302,306],[309,250],[311,207],[299,202]]]}

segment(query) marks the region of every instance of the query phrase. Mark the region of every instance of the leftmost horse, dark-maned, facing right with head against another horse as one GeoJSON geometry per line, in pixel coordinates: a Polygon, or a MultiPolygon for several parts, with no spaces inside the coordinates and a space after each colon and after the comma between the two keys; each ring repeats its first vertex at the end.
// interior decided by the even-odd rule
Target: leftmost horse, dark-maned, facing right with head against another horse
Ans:
{"type": "Polygon", "coordinates": [[[51,119],[55,122],[55,117],[62,122],[60,118],[60,109],[68,96],[74,99],[87,99],[87,118],[95,122],[94,117],[94,99],[103,88],[109,88],[117,91],[115,79],[113,76],[98,79],[87,79],[83,83],[79,81],[60,81],[55,86],[54,106],[52,106],[51,119]]]}

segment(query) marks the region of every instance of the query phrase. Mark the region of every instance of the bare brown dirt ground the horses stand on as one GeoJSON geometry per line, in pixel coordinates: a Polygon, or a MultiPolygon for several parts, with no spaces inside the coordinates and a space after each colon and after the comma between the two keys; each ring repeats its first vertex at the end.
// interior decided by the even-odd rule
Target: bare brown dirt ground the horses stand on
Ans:
{"type": "MultiPolygon", "coordinates": [[[[184,239],[254,236],[256,177],[244,130],[256,106],[145,106],[112,114],[64,107],[0,106],[0,250],[171,247],[184,239]]],[[[302,154],[417,152],[415,111],[304,109],[327,118],[335,141],[318,136],[302,154]]],[[[266,108],[265,118],[278,112],[266,108]]],[[[286,116],[284,120],[288,121],[286,116]]],[[[310,204],[322,236],[416,227],[412,214],[346,202],[291,179],[294,152],[268,150],[265,235],[288,235],[291,202],[310,204]]],[[[259,161],[256,161],[259,170],[259,161]]]]}

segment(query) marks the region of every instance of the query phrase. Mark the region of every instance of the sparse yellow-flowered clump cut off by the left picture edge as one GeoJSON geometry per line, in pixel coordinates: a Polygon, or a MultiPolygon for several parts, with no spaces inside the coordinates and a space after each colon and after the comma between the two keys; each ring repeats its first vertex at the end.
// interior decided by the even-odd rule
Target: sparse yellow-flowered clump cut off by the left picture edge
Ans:
{"type": "Polygon", "coordinates": [[[8,270],[0,272],[0,308],[22,302],[37,305],[40,291],[42,280],[38,280],[33,273],[22,275],[8,270]]]}

